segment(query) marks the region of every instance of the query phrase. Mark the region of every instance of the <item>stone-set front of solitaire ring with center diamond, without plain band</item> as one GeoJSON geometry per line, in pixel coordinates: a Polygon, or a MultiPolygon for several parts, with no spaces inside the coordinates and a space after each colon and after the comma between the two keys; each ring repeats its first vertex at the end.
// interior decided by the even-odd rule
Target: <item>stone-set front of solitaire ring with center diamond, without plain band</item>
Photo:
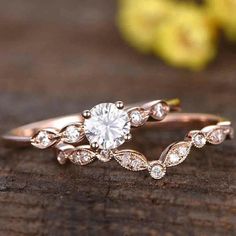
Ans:
{"type": "Polygon", "coordinates": [[[108,118],[113,120],[114,123],[114,118],[116,118],[116,122],[113,126],[116,128],[120,126],[123,135],[114,139],[114,143],[105,140],[103,142],[101,141],[99,144],[103,148],[115,148],[131,138],[130,127],[140,127],[144,125],[149,118],[161,121],[170,111],[178,110],[178,107],[178,100],[171,100],[170,105],[163,100],[156,100],[149,103],[143,103],[140,106],[131,107],[124,107],[123,102],[121,101],[116,103],[101,103],[91,110],[82,112],[80,117],[81,122],[70,123],[62,129],[40,129],[31,137],[30,142],[36,148],[46,149],[56,147],[58,143],[78,145],[86,136],[90,145],[95,145],[95,141],[101,141],[101,138],[98,137],[98,133],[100,133],[100,136],[102,135],[101,131],[104,130],[104,124],[98,117],[103,116],[106,119],[106,122],[108,118]],[[172,103],[176,104],[172,105],[172,103]],[[111,113],[111,115],[107,115],[107,113],[111,113]],[[101,130],[99,130],[99,124],[102,126],[101,130]]]}

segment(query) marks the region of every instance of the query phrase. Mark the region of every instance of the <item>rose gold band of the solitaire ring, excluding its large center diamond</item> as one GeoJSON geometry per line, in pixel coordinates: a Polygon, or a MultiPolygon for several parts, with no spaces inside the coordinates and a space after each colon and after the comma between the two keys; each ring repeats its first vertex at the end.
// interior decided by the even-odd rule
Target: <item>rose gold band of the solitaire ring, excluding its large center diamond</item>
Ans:
{"type": "MultiPolygon", "coordinates": [[[[169,112],[180,111],[179,99],[167,101],[155,100],[147,103],[128,105],[124,108],[122,102],[117,102],[115,105],[119,107],[118,109],[124,109],[127,112],[132,127],[142,126],[147,121],[161,121],[169,112]]],[[[4,144],[9,147],[30,146],[31,144],[34,144],[34,146],[41,149],[48,148],[49,146],[51,147],[52,145],[57,144],[59,141],[66,141],[66,133],[64,132],[66,128],[75,125],[78,127],[78,131],[80,132],[81,125],[83,125],[86,115],[88,115],[86,113],[89,112],[90,111],[84,111],[82,114],[78,113],[27,124],[9,131],[2,136],[2,139],[4,144]],[[40,131],[49,132],[54,142],[50,144],[48,143],[46,146],[37,146],[37,144],[33,142],[32,137],[37,135],[40,131]]],[[[69,134],[70,132],[67,133],[69,134]]],[[[67,140],[69,141],[68,143],[79,143],[84,135],[82,134],[78,136],[80,136],[78,137],[79,140],[75,139],[71,140],[71,142],[67,140]]]]}

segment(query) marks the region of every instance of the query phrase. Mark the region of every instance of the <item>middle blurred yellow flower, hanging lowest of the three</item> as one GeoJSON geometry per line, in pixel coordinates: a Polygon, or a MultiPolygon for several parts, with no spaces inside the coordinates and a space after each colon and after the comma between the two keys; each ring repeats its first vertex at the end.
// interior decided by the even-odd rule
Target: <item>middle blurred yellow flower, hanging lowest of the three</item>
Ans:
{"type": "Polygon", "coordinates": [[[216,31],[199,6],[176,4],[156,30],[154,50],[166,62],[201,70],[216,54],[216,31]]]}

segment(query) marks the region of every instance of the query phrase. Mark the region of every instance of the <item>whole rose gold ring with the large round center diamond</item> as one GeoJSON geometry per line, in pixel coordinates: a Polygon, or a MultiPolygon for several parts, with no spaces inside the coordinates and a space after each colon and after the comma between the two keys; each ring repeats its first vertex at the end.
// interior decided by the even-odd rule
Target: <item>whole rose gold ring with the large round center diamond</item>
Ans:
{"type": "Polygon", "coordinates": [[[124,106],[121,101],[101,103],[82,113],[18,127],[3,135],[3,141],[10,147],[32,144],[37,148],[45,149],[56,147],[60,143],[78,144],[85,141],[86,137],[92,147],[96,148],[100,145],[100,149],[111,149],[110,146],[118,147],[131,139],[131,127],[140,127],[148,121],[161,121],[168,113],[175,111],[180,111],[179,99],[155,100],[128,106],[124,106]],[[117,129],[111,129],[111,132],[107,130],[108,134],[118,131],[113,135],[113,143],[107,141],[106,137],[101,139],[101,136],[106,135],[102,132],[101,125],[104,126],[103,123],[109,122],[109,119],[117,129]],[[97,127],[97,124],[100,126],[97,127]],[[100,132],[101,135],[96,135],[95,132],[100,132]]]}

